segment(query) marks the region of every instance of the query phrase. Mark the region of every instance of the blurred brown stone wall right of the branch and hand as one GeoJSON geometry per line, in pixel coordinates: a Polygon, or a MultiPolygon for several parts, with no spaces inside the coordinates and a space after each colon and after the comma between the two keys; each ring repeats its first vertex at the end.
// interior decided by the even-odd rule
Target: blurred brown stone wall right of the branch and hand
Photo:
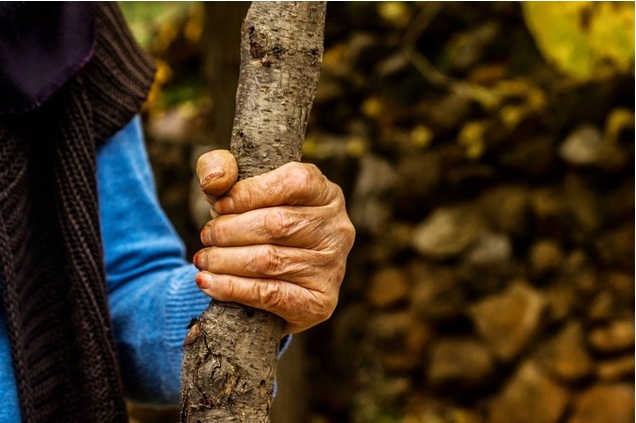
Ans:
{"type": "Polygon", "coordinates": [[[518,4],[364,7],[331,8],[305,154],[358,231],[311,421],[633,421],[633,75],[572,84],[518,4]]]}

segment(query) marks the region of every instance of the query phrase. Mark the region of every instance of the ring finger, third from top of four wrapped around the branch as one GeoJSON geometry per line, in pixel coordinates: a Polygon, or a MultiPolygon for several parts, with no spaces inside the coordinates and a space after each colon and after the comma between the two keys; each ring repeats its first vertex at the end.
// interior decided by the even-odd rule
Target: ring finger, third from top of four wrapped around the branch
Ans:
{"type": "Polygon", "coordinates": [[[326,253],[270,244],[204,248],[193,260],[199,270],[211,273],[292,281],[315,290],[328,289],[331,261],[326,253]]]}

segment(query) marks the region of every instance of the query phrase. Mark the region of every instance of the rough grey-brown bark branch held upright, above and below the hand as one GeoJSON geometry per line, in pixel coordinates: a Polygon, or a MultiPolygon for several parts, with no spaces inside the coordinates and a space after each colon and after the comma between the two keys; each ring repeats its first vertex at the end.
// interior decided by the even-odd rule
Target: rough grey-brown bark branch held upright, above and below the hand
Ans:
{"type": "MultiPolygon", "coordinates": [[[[326,2],[254,2],[242,27],[230,149],[239,179],[299,161],[322,61],[326,2]]],[[[184,342],[181,422],[266,423],[284,322],[212,301],[184,342]]]]}

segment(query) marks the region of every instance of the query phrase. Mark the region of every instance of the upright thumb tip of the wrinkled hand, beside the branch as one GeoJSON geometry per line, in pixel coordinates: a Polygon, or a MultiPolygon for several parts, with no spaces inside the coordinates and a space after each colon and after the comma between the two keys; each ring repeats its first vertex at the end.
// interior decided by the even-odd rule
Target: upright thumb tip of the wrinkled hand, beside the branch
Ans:
{"type": "Polygon", "coordinates": [[[214,197],[225,194],[236,182],[238,166],[228,150],[213,150],[199,157],[196,173],[201,190],[209,201],[214,201],[214,197]]]}

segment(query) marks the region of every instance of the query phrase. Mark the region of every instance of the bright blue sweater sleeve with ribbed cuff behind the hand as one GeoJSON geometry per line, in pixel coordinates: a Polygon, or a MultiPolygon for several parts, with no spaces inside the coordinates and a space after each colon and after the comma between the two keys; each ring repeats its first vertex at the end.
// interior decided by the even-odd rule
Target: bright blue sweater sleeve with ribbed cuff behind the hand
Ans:
{"type": "Polygon", "coordinates": [[[139,118],[97,157],[113,332],[128,397],[177,404],[187,324],[209,303],[161,210],[139,118]]]}

